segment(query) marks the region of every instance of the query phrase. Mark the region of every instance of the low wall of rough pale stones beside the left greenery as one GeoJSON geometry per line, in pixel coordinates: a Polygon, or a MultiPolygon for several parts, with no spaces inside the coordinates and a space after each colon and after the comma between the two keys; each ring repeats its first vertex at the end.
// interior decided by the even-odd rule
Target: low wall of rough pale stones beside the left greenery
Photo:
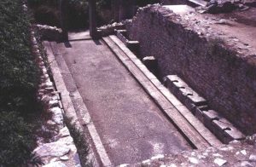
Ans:
{"type": "Polygon", "coordinates": [[[64,111],[61,97],[49,77],[49,70],[39,50],[38,41],[34,37],[34,32],[31,33],[31,36],[32,53],[36,55],[38,66],[42,73],[40,78],[41,83],[38,89],[38,101],[41,101],[44,106],[44,115],[49,115],[43,121],[42,130],[40,131],[41,135],[37,141],[38,147],[33,152],[41,158],[42,166],[44,167],[79,167],[81,165],[77,147],[74,145],[73,137],[70,135],[63,121],[64,111]]]}

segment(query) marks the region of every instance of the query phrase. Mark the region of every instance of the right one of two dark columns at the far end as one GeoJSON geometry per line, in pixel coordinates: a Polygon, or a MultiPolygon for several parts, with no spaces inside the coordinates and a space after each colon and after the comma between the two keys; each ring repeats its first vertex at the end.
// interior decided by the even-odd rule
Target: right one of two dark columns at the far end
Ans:
{"type": "Polygon", "coordinates": [[[96,0],[89,0],[89,26],[90,37],[93,39],[98,38],[96,29],[96,0]]]}

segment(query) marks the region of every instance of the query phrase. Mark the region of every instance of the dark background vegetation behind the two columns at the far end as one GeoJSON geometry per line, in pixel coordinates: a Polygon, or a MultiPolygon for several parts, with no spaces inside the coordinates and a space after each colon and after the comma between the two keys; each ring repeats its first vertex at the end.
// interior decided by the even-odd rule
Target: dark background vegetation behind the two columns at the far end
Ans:
{"type": "MultiPolygon", "coordinates": [[[[60,0],[27,0],[34,11],[35,19],[39,24],[60,27],[60,0]]],[[[62,0],[64,1],[64,0],[62,0]]],[[[86,28],[89,24],[88,0],[66,0],[68,2],[67,26],[69,29],[86,28]]],[[[112,21],[112,0],[97,0],[97,23],[108,24],[112,21]]],[[[159,0],[135,0],[137,6],[148,3],[158,3],[159,0]]]]}

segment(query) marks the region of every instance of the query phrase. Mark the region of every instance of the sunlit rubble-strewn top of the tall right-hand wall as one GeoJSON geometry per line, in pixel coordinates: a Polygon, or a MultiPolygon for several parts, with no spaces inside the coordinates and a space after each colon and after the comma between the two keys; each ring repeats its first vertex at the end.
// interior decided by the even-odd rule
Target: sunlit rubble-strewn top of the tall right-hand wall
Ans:
{"type": "MultiPolygon", "coordinates": [[[[175,23],[188,32],[196,33],[206,41],[217,39],[224,48],[234,51],[236,58],[246,60],[248,65],[256,66],[256,43],[253,36],[250,35],[250,27],[243,26],[236,22],[236,19],[229,20],[226,17],[223,19],[222,14],[200,14],[197,12],[175,14],[160,4],[153,4],[138,9],[133,21],[141,13],[156,14],[160,22],[166,24],[166,27],[175,23]],[[240,33],[237,33],[238,30],[240,33]]],[[[256,35],[256,28],[254,31],[256,35]]]]}

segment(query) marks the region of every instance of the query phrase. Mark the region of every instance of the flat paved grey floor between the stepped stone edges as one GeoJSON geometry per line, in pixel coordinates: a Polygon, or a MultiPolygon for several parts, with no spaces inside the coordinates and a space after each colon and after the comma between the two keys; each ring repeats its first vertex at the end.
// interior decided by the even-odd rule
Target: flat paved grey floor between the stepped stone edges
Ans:
{"type": "Polygon", "coordinates": [[[114,165],[191,149],[102,41],[72,40],[54,48],[68,91],[79,89],[114,165]]]}

